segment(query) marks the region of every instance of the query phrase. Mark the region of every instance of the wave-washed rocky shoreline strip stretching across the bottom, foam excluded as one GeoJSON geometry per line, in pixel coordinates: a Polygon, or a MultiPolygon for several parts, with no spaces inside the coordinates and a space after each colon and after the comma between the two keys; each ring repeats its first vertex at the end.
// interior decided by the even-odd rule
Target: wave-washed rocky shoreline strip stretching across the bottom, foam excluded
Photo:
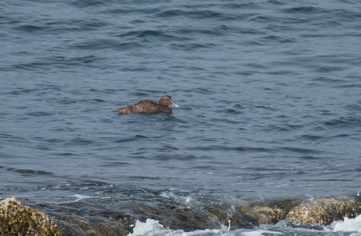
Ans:
{"type": "MultiPolygon", "coordinates": [[[[181,229],[186,232],[223,228],[229,225],[237,228],[255,228],[261,224],[276,224],[286,227],[317,228],[329,225],[344,217],[355,218],[361,214],[361,202],[348,197],[315,197],[307,199],[283,199],[275,201],[226,201],[201,202],[198,207],[184,207],[176,201],[138,202],[136,207],[116,205],[111,210],[93,209],[92,214],[82,214],[72,207],[81,204],[72,202],[63,205],[57,215],[62,230],[49,217],[37,210],[24,206],[16,198],[6,198],[0,202],[0,235],[6,236],[62,236],[62,235],[127,235],[132,233],[136,220],[158,220],[165,228],[181,229]],[[142,204],[141,204],[142,203],[142,204]],[[67,215],[67,209],[73,209],[67,215]],[[98,211],[99,210],[99,211],[98,211]],[[98,213],[98,214],[97,214],[98,213]]],[[[168,200],[168,198],[166,199],[168,200]]],[[[132,205],[135,206],[135,205],[132,205]]],[[[52,213],[53,214],[53,213],[52,213]]]]}

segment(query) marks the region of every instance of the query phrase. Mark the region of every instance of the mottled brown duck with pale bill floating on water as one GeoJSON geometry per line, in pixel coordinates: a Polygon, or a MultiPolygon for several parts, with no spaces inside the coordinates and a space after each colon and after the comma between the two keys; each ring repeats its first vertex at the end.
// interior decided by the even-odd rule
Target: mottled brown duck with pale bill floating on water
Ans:
{"type": "Polygon", "coordinates": [[[175,106],[179,108],[177,104],[172,100],[169,95],[161,97],[159,102],[153,102],[151,100],[142,100],[134,105],[127,107],[117,108],[117,111],[121,115],[132,114],[132,113],[172,113],[172,109],[169,106],[175,106]]]}

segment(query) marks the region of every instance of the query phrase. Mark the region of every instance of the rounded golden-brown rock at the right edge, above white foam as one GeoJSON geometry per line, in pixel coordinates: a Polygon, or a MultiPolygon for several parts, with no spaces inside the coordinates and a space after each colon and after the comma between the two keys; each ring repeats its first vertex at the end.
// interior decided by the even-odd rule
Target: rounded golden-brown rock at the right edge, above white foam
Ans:
{"type": "Polygon", "coordinates": [[[355,218],[361,213],[361,203],[347,197],[325,197],[305,201],[293,207],[285,220],[301,224],[328,225],[344,217],[355,218]]]}

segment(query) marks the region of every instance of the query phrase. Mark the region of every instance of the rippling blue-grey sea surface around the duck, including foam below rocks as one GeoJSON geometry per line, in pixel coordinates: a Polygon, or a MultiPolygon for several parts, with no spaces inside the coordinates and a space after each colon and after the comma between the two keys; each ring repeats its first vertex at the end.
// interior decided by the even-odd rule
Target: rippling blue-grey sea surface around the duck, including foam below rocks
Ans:
{"type": "Polygon", "coordinates": [[[0,2],[0,198],[60,225],[169,199],[358,197],[360,133],[360,1],[0,2]],[[163,95],[180,108],[116,111],[163,95]]]}

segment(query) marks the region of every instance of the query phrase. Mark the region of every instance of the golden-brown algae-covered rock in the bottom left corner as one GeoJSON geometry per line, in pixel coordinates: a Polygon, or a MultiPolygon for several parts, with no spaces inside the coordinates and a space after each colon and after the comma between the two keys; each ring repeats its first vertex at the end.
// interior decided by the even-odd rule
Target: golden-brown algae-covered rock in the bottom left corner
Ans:
{"type": "Polygon", "coordinates": [[[24,206],[16,198],[0,202],[0,233],[6,236],[61,236],[62,232],[49,217],[24,206]]]}

